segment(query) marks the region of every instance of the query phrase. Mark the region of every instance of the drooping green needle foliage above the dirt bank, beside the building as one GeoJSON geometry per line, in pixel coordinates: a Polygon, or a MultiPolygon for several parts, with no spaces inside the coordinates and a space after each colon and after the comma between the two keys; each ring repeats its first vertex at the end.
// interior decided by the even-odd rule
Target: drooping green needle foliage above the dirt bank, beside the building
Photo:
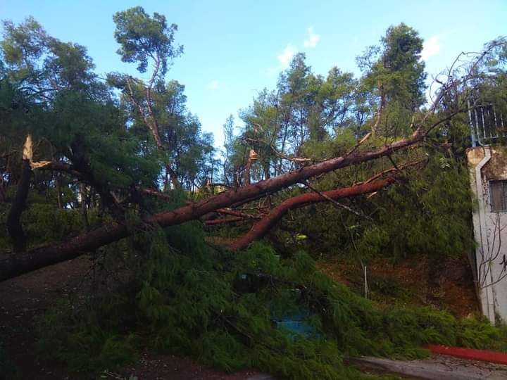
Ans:
{"type": "Polygon", "coordinates": [[[467,167],[434,154],[424,170],[409,178],[377,197],[377,220],[358,239],[358,249],[365,255],[401,258],[456,256],[472,248],[467,167]]]}

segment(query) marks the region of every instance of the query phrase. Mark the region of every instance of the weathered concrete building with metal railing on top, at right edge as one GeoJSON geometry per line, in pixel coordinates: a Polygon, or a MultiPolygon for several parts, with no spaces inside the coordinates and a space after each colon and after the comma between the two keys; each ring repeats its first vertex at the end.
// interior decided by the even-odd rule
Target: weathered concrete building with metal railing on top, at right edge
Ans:
{"type": "Polygon", "coordinates": [[[482,312],[495,324],[507,322],[507,147],[501,144],[503,117],[492,105],[475,108],[469,116],[467,158],[477,203],[471,261],[482,312]]]}

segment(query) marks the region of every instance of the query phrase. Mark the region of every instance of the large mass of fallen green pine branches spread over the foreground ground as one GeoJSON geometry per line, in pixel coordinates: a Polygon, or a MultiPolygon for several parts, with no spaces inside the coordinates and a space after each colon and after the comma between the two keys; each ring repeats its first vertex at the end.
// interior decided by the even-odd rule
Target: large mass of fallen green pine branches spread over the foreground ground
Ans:
{"type": "Polygon", "coordinates": [[[346,357],[423,357],[426,343],[507,348],[506,332],[480,319],[379,308],[315,270],[304,252],[280,260],[262,243],[240,255],[211,248],[194,222],[151,228],[108,249],[137,269],[94,302],[62,304],[40,319],[41,355],[101,370],[125,365],[145,347],[229,372],[254,367],[308,380],[361,379],[346,357]],[[313,332],[277,328],[275,321],[296,313],[313,332]]]}

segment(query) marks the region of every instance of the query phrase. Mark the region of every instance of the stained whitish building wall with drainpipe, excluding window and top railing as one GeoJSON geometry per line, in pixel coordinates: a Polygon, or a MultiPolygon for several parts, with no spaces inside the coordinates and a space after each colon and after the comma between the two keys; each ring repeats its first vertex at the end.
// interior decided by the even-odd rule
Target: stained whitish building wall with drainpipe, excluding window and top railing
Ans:
{"type": "Polygon", "coordinates": [[[470,185],[476,197],[473,217],[475,274],[482,312],[492,323],[507,322],[507,212],[492,213],[489,181],[507,179],[507,149],[470,148],[470,185]],[[505,277],[505,278],[503,278],[505,277]]]}

